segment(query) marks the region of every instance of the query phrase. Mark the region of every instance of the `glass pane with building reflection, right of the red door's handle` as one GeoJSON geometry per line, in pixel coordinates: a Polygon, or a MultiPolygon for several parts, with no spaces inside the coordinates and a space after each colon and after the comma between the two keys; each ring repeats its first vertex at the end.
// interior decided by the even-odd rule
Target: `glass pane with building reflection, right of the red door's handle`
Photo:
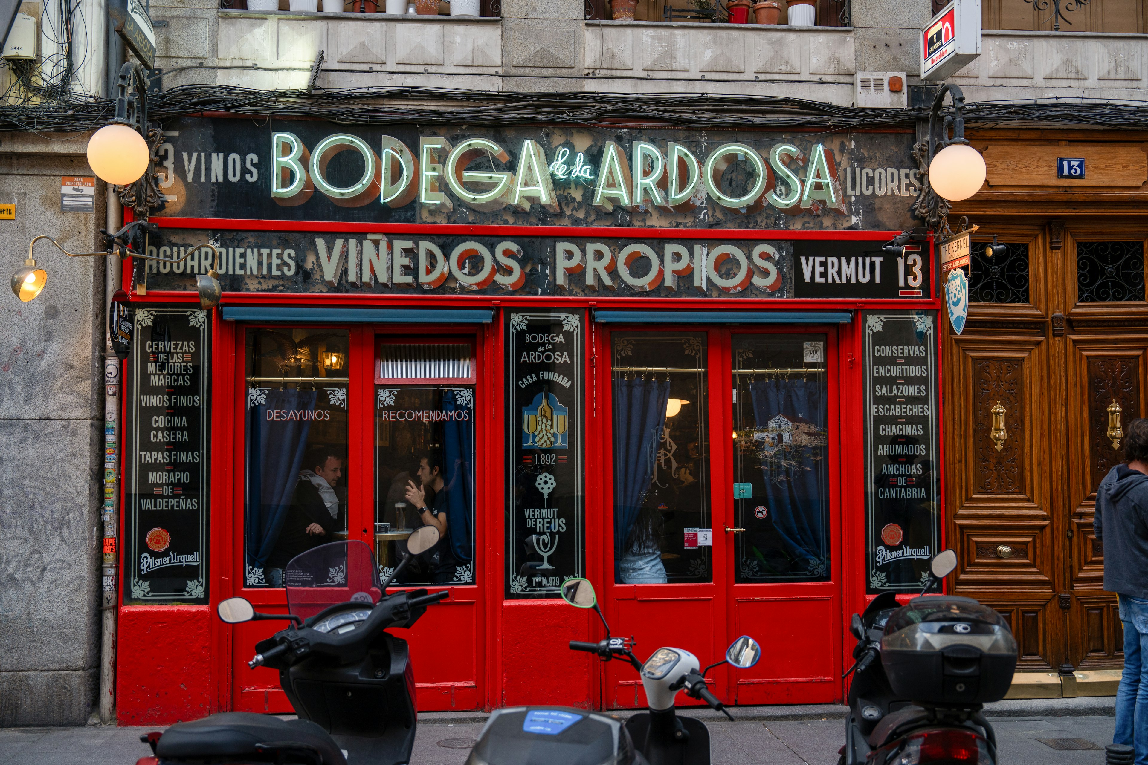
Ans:
{"type": "Polygon", "coordinates": [[[825,336],[735,335],[734,390],[735,581],[828,580],[825,336]]]}

